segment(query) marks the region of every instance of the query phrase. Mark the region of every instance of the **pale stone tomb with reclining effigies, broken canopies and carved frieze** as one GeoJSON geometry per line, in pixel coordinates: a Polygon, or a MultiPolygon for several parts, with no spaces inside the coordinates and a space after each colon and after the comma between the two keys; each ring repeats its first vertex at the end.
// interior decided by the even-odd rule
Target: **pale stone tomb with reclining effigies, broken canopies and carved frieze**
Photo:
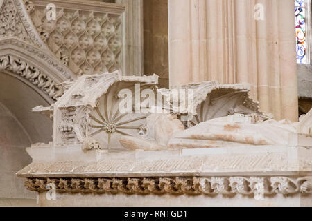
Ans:
{"type": "Polygon", "coordinates": [[[191,109],[175,109],[157,75],[83,75],[62,86],[55,104],[34,108],[53,118],[53,142],[27,148],[33,162],[17,173],[42,206],[311,205],[311,113],[277,122],[245,84],[204,82],[184,86],[193,90],[187,123],[191,109]],[[155,106],[142,109],[147,95],[155,106]],[[56,200],[46,200],[51,184],[56,200]]]}

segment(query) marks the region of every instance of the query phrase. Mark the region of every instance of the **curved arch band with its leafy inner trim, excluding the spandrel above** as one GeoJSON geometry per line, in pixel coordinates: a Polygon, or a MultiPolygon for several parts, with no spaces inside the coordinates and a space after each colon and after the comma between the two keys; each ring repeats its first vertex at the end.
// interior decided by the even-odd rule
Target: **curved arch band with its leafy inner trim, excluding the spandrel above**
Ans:
{"type": "Polygon", "coordinates": [[[15,38],[0,40],[0,71],[24,78],[53,101],[63,93],[57,84],[76,78],[44,50],[15,38]]]}

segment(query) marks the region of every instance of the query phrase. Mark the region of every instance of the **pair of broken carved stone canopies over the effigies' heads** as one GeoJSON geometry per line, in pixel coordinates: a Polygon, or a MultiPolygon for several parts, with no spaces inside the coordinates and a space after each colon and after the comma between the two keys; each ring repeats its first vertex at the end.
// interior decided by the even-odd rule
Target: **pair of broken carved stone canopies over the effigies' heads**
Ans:
{"type": "MultiPolygon", "coordinates": [[[[83,75],[75,82],[61,84],[60,87],[65,93],[51,107],[37,107],[33,111],[53,115],[54,146],[98,143],[97,148],[105,150],[124,150],[123,144],[120,143],[123,136],[149,136],[151,131],[154,131],[150,126],[157,127],[153,125],[156,122],[150,122],[153,114],[171,113],[183,121],[184,115],[193,110],[188,106],[185,108],[182,104],[173,104],[175,92],[178,93],[177,103],[187,99],[188,105],[193,104],[193,109],[196,110],[192,112],[193,118],[189,120],[191,124],[185,124],[187,128],[227,115],[254,113],[266,117],[259,111],[257,103],[249,98],[248,85],[220,85],[212,81],[184,86],[175,91],[157,90],[157,82],[157,75],[122,76],[119,72],[83,75]],[[192,91],[190,94],[193,97],[185,97],[186,88],[189,93],[192,91]],[[130,93],[125,99],[131,100],[131,113],[123,113],[120,110],[124,105],[121,102],[125,102],[123,90],[130,93]],[[148,105],[141,105],[146,100],[148,105]],[[157,108],[153,109],[154,106],[157,108]]],[[[164,122],[169,124],[170,119],[164,118],[164,122]]],[[[181,125],[181,128],[184,129],[184,126],[181,125]]]]}

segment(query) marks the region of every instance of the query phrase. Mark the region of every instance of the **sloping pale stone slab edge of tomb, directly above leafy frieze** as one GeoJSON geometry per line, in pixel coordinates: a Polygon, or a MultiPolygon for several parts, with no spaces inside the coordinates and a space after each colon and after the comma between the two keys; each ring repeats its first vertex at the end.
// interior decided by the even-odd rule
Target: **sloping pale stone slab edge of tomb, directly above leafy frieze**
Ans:
{"type": "MultiPolygon", "coordinates": [[[[40,148],[28,148],[31,157],[37,156],[40,148]]],[[[232,175],[296,175],[311,174],[311,151],[303,147],[261,146],[252,148],[207,148],[182,151],[141,151],[127,153],[102,153],[94,159],[83,161],[85,155],[73,146],[69,153],[64,148],[42,145],[40,162],[32,162],[17,173],[19,177],[137,177],[144,176],[214,176],[232,175]],[[76,151],[74,151],[76,150],[76,151]],[[218,152],[220,151],[220,152],[218,152]],[[219,153],[216,154],[215,152],[219,153]],[[71,155],[75,159],[71,159],[71,155]],[[62,157],[60,157],[62,155],[62,157]],[[291,157],[290,157],[291,156],[291,157]],[[298,157],[295,157],[298,156],[298,157]],[[42,162],[41,159],[46,159],[42,162]],[[59,159],[59,160],[58,160],[59,159]],[[262,171],[262,172],[261,172],[262,171]]]]}

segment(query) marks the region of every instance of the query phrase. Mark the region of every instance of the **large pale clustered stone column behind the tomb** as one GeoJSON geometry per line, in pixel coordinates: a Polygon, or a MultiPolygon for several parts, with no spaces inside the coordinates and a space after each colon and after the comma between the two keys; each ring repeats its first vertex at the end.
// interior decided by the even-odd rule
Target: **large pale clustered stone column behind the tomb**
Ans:
{"type": "Polygon", "coordinates": [[[171,87],[248,82],[262,111],[297,121],[294,7],[293,0],[168,0],[171,87]]]}

